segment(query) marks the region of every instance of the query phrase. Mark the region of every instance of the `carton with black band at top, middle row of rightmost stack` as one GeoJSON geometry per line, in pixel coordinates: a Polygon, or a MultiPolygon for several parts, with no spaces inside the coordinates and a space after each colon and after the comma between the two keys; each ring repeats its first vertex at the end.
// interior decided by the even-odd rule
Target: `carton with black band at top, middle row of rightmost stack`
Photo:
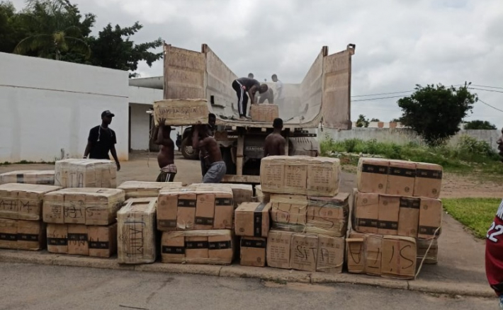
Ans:
{"type": "Polygon", "coordinates": [[[419,226],[419,205],[421,199],[400,197],[400,213],[398,214],[398,236],[417,237],[419,226]]]}

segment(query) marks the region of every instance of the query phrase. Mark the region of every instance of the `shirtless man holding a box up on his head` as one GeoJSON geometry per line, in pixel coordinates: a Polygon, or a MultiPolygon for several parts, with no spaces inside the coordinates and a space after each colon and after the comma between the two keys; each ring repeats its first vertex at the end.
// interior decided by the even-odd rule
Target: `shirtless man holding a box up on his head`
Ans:
{"type": "Polygon", "coordinates": [[[176,175],[176,166],[174,164],[175,144],[170,137],[171,126],[166,126],[166,120],[159,120],[159,126],[155,127],[154,143],[161,146],[157,155],[157,163],[161,168],[161,173],[157,177],[156,182],[173,182],[176,175]]]}

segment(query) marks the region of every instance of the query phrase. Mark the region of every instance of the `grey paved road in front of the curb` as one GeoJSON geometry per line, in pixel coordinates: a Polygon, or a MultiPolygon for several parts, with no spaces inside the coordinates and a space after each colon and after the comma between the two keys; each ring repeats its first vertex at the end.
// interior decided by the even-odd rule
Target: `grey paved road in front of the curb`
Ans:
{"type": "Polygon", "coordinates": [[[0,309],[497,309],[496,299],[356,285],[0,263],[0,309]]]}

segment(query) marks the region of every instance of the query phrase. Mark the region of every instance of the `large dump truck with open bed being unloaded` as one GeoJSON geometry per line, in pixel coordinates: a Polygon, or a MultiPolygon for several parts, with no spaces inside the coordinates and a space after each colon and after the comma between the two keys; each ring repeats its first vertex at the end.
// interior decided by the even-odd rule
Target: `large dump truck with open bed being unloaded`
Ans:
{"type": "MultiPolygon", "coordinates": [[[[351,57],[356,46],[329,54],[322,47],[303,81],[283,84],[285,95],[278,106],[288,155],[317,156],[317,132],[324,128],[351,130],[351,57]]],[[[271,74],[275,73],[271,69],[271,74]]],[[[271,122],[239,120],[232,81],[239,76],[208,47],[200,52],[164,44],[164,99],[205,98],[217,116],[215,140],[227,166],[225,183],[260,183],[264,140],[273,131],[271,122]]],[[[278,76],[281,80],[281,76],[278,76]]],[[[272,83],[268,86],[274,87],[272,83]]],[[[184,157],[198,159],[192,145],[192,128],[186,127],[177,145],[184,157]]]]}

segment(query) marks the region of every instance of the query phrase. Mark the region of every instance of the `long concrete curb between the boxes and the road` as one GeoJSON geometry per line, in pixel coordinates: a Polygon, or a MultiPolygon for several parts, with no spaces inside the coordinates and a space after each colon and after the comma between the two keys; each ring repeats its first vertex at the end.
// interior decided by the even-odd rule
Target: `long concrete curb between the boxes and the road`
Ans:
{"type": "Polygon", "coordinates": [[[91,258],[89,256],[69,256],[42,252],[2,250],[0,263],[30,263],[38,265],[59,265],[69,267],[101,268],[113,270],[135,270],[140,272],[164,272],[216,277],[244,277],[273,282],[300,282],[310,284],[351,284],[406,289],[429,294],[447,294],[467,297],[494,297],[489,285],[460,282],[437,282],[426,280],[394,280],[385,277],[357,275],[350,273],[328,274],[304,272],[276,268],[259,268],[241,265],[188,265],[152,263],[145,265],[119,265],[115,258],[91,258]]]}

